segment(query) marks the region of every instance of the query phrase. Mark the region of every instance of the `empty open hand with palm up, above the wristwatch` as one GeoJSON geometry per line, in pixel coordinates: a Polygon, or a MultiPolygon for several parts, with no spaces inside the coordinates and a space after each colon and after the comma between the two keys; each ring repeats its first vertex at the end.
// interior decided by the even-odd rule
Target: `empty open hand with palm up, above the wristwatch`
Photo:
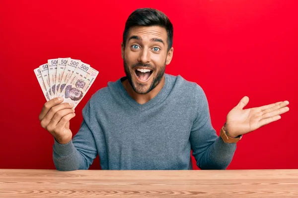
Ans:
{"type": "Polygon", "coordinates": [[[249,101],[243,97],[226,116],[226,131],[236,137],[254,131],[266,124],[281,119],[280,114],[289,111],[289,101],[280,101],[260,107],[243,109],[249,101]]]}

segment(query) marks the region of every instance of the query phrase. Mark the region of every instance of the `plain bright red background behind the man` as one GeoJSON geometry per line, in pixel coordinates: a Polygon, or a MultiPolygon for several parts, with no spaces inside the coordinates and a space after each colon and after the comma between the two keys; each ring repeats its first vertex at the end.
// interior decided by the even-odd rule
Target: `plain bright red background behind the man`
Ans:
{"type": "MultiPolygon", "coordinates": [[[[0,168],[53,169],[52,136],[41,128],[45,98],[33,69],[72,57],[100,73],[71,120],[96,90],[124,76],[121,42],[129,14],[163,11],[174,25],[166,72],[205,90],[214,128],[243,96],[247,107],[290,101],[282,119],[243,136],[228,169],[298,168],[296,0],[0,1],[0,168]]],[[[95,159],[91,169],[99,168],[95,159]]]]}

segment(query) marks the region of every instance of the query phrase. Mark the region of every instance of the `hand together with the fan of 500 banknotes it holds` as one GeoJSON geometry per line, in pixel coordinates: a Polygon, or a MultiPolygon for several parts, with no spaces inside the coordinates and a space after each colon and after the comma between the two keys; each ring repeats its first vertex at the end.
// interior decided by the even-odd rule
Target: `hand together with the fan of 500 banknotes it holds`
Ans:
{"type": "Polygon", "coordinates": [[[34,69],[47,100],[39,115],[40,124],[60,144],[72,140],[70,120],[74,108],[86,95],[98,75],[89,64],[72,58],[49,59],[34,69]]]}

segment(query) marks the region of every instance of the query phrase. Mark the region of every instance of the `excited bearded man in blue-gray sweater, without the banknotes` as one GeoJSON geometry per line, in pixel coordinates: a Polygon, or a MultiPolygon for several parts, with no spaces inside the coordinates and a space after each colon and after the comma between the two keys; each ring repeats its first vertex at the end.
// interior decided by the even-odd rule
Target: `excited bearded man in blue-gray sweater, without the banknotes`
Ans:
{"type": "Polygon", "coordinates": [[[39,119],[54,136],[58,170],[88,169],[99,155],[102,169],[192,169],[191,149],[201,169],[225,169],[243,134],[280,119],[288,101],[243,109],[240,100],[218,137],[206,95],[196,83],[164,74],[173,56],[173,26],[162,12],[144,8],[128,18],[122,58],[126,77],[97,91],[82,110],[72,139],[72,105],[56,98],[39,119]]]}

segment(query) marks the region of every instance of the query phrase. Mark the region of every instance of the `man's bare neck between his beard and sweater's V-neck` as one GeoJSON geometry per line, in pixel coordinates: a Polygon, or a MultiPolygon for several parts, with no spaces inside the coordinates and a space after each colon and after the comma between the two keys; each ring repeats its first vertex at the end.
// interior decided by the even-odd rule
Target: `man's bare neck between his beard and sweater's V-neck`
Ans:
{"type": "Polygon", "coordinates": [[[164,79],[164,75],[163,75],[163,77],[160,80],[160,82],[158,83],[158,85],[156,87],[154,87],[154,89],[152,89],[147,94],[136,93],[127,79],[125,81],[123,81],[122,84],[130,97],[132,97],[134,100],[136,100],[139,104],[145,104],[150,99],[153,99],[160,92],[160,90],[164,86],[164,82],[165,82],[165,79],[164,79]]]}

